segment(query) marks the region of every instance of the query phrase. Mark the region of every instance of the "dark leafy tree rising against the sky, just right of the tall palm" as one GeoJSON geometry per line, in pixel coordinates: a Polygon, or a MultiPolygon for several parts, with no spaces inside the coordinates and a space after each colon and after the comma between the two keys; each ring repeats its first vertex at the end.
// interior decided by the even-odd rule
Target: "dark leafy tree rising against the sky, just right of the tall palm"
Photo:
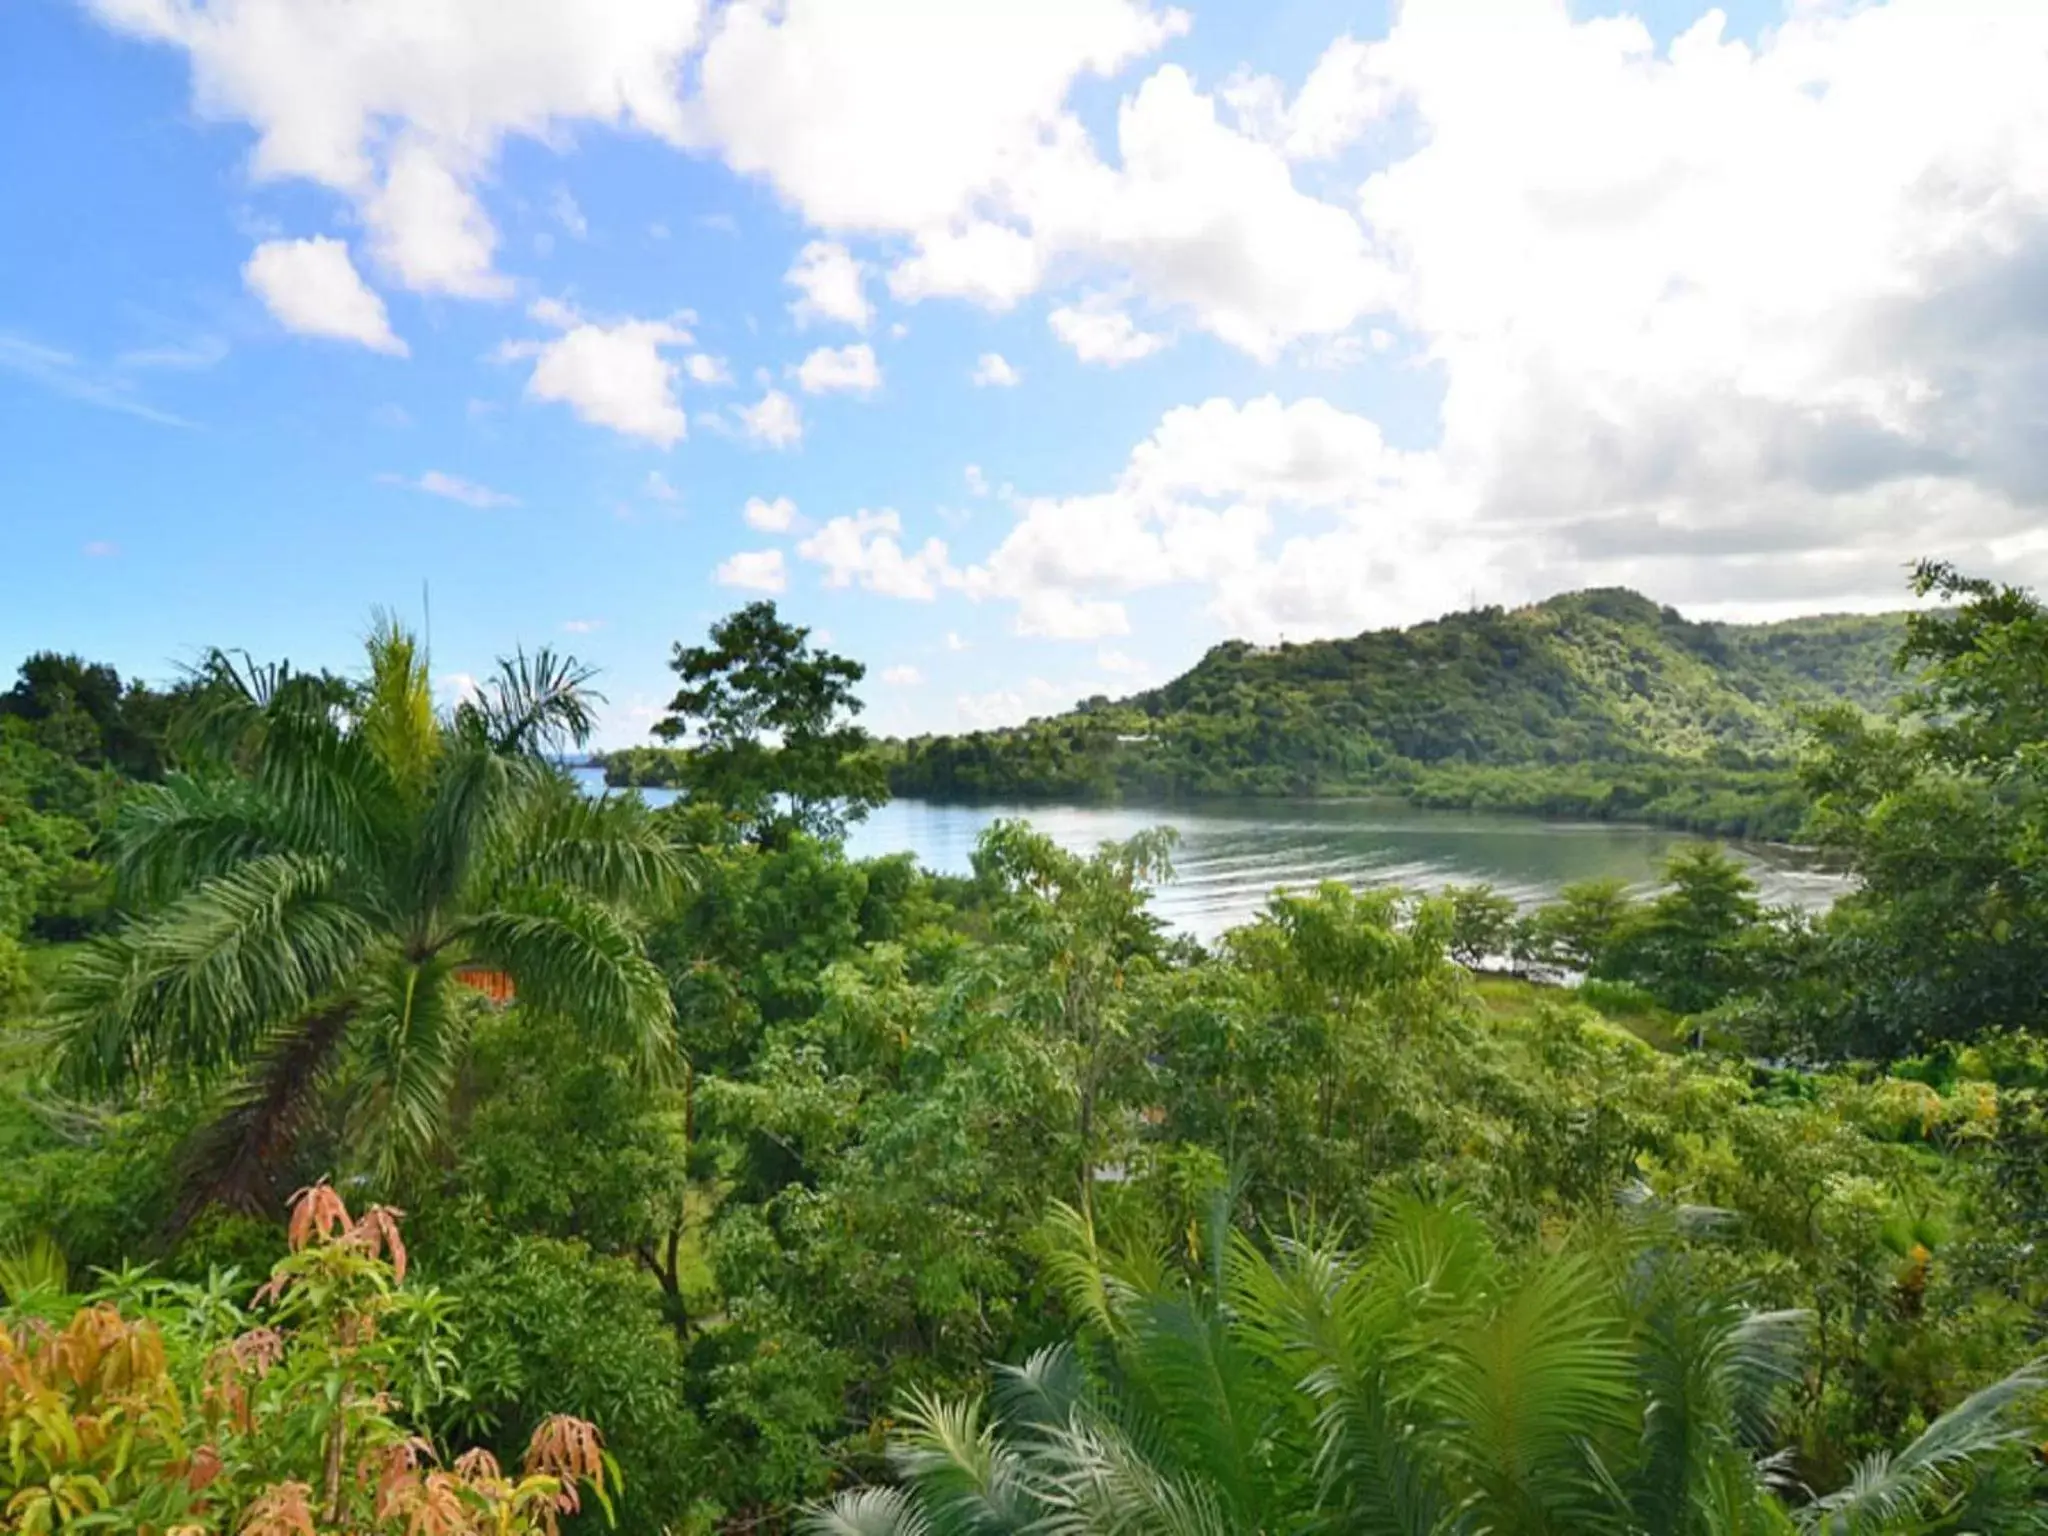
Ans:
{"type": "Polygon", "coordinates": [[[772,602],[750,602],[711,627],[711,645],[676,645],[682,680],[664,741],[690,739],[688,788],[727,807],[764,844],[801,829],[838,838],[848,821],[889,799],[854,684],[866,668],[813,649],[809,629],[788,625],[772,602]]]}

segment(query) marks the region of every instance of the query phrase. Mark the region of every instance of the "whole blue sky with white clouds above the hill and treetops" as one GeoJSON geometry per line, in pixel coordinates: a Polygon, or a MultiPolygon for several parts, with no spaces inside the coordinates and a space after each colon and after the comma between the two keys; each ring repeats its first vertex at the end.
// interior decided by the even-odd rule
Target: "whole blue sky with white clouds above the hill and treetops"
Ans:
{"type": "Polygon", "coordinates": [[[2048,0],[10,0],[0,659],[426,623],[647,739],[2048,578],[2048,0]]]}

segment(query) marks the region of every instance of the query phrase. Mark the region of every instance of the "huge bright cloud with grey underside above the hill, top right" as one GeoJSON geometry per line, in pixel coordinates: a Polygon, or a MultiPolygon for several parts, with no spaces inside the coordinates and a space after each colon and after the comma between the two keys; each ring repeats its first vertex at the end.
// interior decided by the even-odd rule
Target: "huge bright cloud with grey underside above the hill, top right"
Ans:
{"type": "Polygon", "coordinates": [[[1374,47],[1417,147],[1360,207],[1499,567],[1896,602],[1907,557],[2038,518],[2048,10],[1710,12],[1665,51],[1495,12],[1374,47]]]}

